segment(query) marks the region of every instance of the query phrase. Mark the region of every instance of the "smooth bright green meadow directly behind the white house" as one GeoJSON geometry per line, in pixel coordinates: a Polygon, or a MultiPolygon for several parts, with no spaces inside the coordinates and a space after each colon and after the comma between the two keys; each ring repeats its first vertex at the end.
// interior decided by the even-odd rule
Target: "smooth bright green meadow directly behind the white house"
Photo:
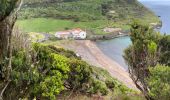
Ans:
{"type": "MultiPolygon", "coordinates": [[[[52,18],[33,18],[18,20],[16,25],[25,32],[47,32],[53,33],[72,28],[82,28],[84,30],[102,30],[107,26],[106,21],[98,20],[92,22],[74,22],[71,20],[60,20],[52,18]]],[[[100,32],[100,31],[99,31],[100,32]]]]}

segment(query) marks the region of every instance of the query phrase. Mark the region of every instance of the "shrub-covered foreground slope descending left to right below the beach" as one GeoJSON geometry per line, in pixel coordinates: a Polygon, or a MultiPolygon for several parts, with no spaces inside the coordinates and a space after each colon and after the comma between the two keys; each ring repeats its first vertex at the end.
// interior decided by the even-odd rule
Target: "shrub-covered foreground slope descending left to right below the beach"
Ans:
{"type": "Polygon", "coordinates": [[[21,33],[19,30],[13,33],[12,70],[3,99],[55,100],[67,91],[87,96],[113,93],[115,97],[136,93],[107,71],[82,61],[74,52],[51,45],[31,44],[21,33]]]}

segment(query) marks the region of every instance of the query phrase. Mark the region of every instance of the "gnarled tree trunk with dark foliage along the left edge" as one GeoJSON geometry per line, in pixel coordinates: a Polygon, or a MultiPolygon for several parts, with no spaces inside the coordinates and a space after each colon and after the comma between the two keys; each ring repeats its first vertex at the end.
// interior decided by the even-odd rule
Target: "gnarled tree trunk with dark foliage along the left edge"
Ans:
{"type": "Polygon", "coordinates": [[[5,79],[5,86],[1,91],[1,97],[9,84],[11,68],[11,38],[12,29],[16,21],[14,13],[15,7],[20,4],[21,0],[1,0],[0,1],[0,70],[1,80],[5,79]]]}

